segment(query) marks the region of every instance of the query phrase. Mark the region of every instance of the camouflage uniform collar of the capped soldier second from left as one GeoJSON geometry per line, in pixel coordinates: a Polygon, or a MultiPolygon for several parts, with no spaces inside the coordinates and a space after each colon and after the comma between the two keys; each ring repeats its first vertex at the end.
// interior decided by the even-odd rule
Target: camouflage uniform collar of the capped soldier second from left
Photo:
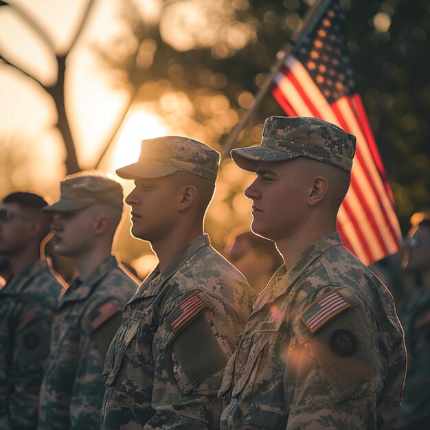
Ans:
{"type": "Polygon", "coordinates": [[[117,266],[118,263],[115,256],[109,256],[91,272],[86,280],[82,281],[79,277],[76,278],[73,284],[60,297],[58,308],[61,308],[68,302],[79,302],[86,299],[91,291],[117,266]]]}

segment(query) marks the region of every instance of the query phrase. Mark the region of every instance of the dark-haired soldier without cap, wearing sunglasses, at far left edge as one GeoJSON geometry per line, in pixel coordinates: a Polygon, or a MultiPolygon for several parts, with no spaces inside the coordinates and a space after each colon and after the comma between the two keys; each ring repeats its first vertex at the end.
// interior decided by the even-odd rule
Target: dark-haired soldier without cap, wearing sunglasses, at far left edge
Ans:
{"type": "Polygon", "coordinates": [[[0,289],[0,429],[36,429],[38,392],[61,284],[41,259],[51,217],[37,194],[14,192],[0,207],[0,253],[11,273],[0,289]]]}

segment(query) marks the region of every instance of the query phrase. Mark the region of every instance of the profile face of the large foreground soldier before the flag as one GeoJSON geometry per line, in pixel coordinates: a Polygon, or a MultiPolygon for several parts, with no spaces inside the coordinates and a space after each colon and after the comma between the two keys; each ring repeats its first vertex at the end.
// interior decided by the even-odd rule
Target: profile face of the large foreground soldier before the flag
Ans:
{"type": "Polygon", "coordinates": [[[275,241],[290,236],[303,222],[308,199],[297,159],[258,163],[255,171],[256,180],[245,190],[253,201],[252,231],[275,241]]]}

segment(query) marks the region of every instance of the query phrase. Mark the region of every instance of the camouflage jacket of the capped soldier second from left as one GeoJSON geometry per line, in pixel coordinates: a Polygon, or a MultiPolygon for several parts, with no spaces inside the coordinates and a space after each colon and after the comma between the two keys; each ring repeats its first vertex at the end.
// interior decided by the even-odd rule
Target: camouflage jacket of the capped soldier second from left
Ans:
{"type": "Polygon", "coordinates": [[[60,297],[41,387],[38,429],[98,429],[102,369],[137,283],[111,256],[60,297]]]}

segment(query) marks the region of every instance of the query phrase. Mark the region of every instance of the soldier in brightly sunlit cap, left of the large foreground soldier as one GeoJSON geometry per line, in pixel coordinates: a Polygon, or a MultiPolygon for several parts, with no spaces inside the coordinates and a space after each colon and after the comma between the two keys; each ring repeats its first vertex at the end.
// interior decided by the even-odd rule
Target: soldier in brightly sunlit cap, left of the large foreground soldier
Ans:
{"type": "Polygon", "coordinates": [[[255,298],[203,234],[219,154],[185,137],[144,140],[126,198],[159,265],[124,309],[106,356],[102,429],[216,429],[223,368],[255,298]]]}

